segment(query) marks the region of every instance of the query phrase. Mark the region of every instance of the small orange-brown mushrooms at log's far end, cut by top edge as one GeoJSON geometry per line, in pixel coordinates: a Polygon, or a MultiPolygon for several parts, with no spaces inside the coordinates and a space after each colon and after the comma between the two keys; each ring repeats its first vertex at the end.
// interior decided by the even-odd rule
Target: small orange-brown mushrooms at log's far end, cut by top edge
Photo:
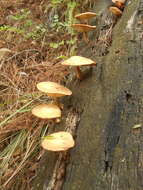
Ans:
{"type": "Polygon", "coordinates": [[[125,6],[125,1],[126,0],[112,0],[112,2],[114,3],[114,6],[111,6],[109,10],[116,16],[121,16],[122,10],[125,6]]]}

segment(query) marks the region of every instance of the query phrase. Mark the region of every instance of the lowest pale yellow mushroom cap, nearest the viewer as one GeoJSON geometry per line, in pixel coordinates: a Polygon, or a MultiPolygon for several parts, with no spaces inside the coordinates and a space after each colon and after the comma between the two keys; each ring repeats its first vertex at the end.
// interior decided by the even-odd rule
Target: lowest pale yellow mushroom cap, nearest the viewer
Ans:
{"type": "Polygon", "coordinates": [[[68,132],[61,131],[52,133],[42,140],[41,146],[46,150],[65,151],[75,145],[72,135],[68,132]]]}

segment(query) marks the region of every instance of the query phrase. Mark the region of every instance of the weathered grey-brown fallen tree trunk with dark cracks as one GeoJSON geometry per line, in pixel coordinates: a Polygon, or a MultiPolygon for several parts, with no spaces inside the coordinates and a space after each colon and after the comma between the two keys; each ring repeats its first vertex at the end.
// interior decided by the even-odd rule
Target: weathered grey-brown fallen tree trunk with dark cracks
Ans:
{"type": "Polygon", "coordinates": [[[76,146],[46,153],[37,190],[143,190],[143,0],[128,1],[121,18],[108,4],[95,3],[98,29],[78,48],[97,66],[68,82],[73,95],[56,128],[70,130],[76,146]]]}

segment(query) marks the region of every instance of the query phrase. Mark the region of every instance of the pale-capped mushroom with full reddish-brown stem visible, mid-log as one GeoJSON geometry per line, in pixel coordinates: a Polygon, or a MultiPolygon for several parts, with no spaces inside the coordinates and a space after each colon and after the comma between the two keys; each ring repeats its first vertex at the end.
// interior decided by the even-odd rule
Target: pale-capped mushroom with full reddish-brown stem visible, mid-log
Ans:
{"type": "Polygon", "coordinates": [[[86,57],[72,56],[69,59],[62,62],[61,64],[67,65],[67,66],[75,66],[76,72],[77,72],[77,78],[82,79],[82,72],[80,70],[80,66],[95,65],[96,63],[94,61],[92,61],[91,59],[88,59],[86,57]]]}

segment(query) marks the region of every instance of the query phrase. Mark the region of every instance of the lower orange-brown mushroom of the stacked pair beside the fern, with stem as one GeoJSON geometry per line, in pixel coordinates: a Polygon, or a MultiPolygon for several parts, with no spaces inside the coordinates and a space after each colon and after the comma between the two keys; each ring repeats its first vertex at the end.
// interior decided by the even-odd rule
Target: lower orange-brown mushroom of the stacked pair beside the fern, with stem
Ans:
{"type": "Polygon", "coordinates": [[[96,26],[91,26],[88,24],[72,24],[71,25],[75,30],[77,30],[78,32],[82,32],[83,33],[83,38],[85,40],[85,42],[88,42],[88,38],[87,38],[87,32],[95,30],[96,26]]]}

